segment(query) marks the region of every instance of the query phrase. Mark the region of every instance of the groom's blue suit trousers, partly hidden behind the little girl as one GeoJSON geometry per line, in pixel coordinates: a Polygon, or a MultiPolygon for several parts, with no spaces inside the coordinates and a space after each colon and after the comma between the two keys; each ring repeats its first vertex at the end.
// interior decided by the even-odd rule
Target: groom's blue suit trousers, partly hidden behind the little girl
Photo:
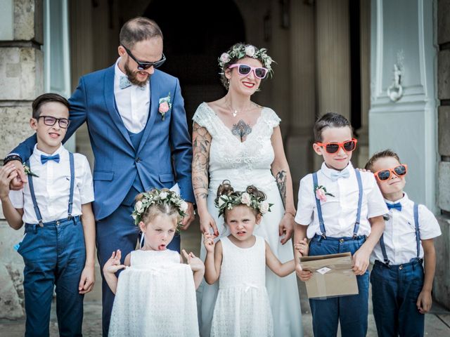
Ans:
{"type": "MultiPolygon", "coordinates": [[[[125,257],[131,251],[136,249],[138,240],[139,227],[134,225],[134,220],[131,218],[134,205],[121,204],[110,216],[97,220],[97,256],[101,267],[102,281],[102,327],[103,336],[108,336],[108,329],[110,326],[111,311],[113,310],[114,293],[111,291],[108,284],[103,277],[103,265],[111,257],[113,251],[120,249],[122,251],[122,263],[125,257]]],[[[180,237],[178,234],[174,237],[172,242],[167,246],[167,249],[174,251],[180,250],[180,237]]],[[[119,272],[120,273],[120,272],[119,272]]],[[[119,274],[117,274],[119,275],[119,274]]]]}

